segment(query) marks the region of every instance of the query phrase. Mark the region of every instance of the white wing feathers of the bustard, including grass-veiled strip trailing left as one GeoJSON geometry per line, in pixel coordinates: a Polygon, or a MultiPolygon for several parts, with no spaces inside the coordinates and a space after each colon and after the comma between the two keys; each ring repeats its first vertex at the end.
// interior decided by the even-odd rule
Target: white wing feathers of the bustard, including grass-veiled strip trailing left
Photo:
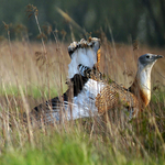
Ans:
{"type": "Polygon", "coordinates": [[[96,107],[96,97],[102,88],[105,84],[101,81],[96,81],[94,79],[89,79],[80,94],[74,97],[72,102],[64,101],[64,107],[52,107],[53,110],[51,116],[47,114],[47,122],[52,120],[56,121],[65,121],[65,120],[76,120],[79,118],[94,117],[98,114],[98,108],[96,107]],[[62,110],[62,117],[59,116],[59,111],[62,110]]]}

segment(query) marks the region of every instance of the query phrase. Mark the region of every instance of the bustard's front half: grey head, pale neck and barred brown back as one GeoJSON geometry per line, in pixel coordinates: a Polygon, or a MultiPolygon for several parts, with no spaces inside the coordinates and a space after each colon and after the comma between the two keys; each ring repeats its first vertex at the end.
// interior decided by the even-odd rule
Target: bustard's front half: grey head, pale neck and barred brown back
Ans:
{"type": "Polygon", "coordinates": [[[106,85],[96,97],[98,112],[103,114],[114,109],[120,102],[130,112],[130,119],[132,119],[140,110],[144,109],[151,100],[151,72],[158,58],[163,58],[163,56],[150,53],[139,57],[138,73],[129,89],[114,81],[106,85]]]}

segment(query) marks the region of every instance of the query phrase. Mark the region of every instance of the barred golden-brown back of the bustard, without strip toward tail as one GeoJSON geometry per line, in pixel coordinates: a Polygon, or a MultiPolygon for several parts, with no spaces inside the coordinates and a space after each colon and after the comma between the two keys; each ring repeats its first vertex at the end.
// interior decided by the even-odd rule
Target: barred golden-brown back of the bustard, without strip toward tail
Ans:
{"type": "Polygon", "coordinates": [[[124,87],[111,82],[96,97],[96,107],[100,114],[114,108],[127,108],[130,111],[130,118],[132,118],[135,117],[139,111],[139,100],[124,87]]]}

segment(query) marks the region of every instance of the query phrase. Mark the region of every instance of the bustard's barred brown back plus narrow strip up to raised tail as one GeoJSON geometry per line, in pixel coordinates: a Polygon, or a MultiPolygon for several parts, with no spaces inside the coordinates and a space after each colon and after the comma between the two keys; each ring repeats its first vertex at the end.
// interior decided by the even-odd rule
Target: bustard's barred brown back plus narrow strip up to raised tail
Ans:
{"type": "MultiPolygon", "coordinates": [[[[82,67],[82,66],[81,66],[82,67]]],[[[106,86],[96,97],[96,107],[98,113],[103,114],[106,111],[114,108],[124,108],[130,112],[130,119],[136,116],[140,105],[139,99],[125,87],[110,80],[108,84],[105,75],[96,66],[92,69],[84,67],[84,75],[97,81],[102,81],[106,86]]]]}

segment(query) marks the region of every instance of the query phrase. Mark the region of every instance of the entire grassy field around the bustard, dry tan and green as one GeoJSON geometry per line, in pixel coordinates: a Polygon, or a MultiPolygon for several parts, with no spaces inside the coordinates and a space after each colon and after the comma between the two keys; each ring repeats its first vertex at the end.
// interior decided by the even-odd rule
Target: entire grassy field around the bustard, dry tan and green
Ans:
{"type": "MultiPolygon", "coordinates": [[[[40,102],[63,94],[70,62],[68,44],[0,42],[0,164],[165,164],[165,59],[152,72],[152,101],[131,123],[82,119],[64,125],[23,122],[40,102]]],[[[101,72],[129,87],[136,59],[165,50],[103,42],[101,72]]]]}

